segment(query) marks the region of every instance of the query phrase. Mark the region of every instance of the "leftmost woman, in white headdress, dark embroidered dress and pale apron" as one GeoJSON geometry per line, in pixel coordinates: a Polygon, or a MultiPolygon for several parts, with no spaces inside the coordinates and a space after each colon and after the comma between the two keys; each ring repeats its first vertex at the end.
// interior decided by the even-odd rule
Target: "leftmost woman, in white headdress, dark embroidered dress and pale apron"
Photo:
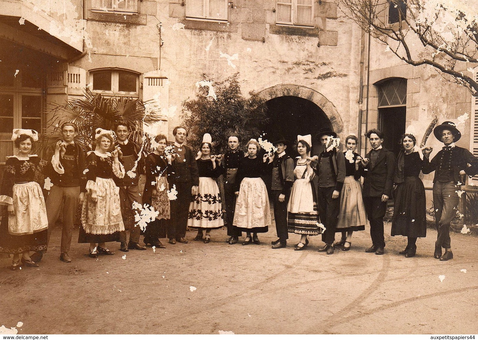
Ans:
{"type": "Polygon", "coordinates": [[[30,154],[38,141],[34,130],[15,129],[11,140],[18,154],[7,157],[0,187],[0,205],[7,206],[1,219],[0,252],[13,254],[12,270],[22,263],[38,267],[30,252],[46,250],[48,219],[42,188],[35,182],[35,173],[48,164],[36,154],[30,154]]]}

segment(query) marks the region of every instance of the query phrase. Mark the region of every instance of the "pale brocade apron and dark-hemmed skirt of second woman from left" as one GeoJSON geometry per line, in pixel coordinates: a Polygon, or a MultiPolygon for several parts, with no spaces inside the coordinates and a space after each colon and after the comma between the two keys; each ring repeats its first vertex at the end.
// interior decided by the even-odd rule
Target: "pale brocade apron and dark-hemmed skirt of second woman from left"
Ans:
{"type": "Polygon", "coordinates": [[[96,202],[91,199],[90,192],[83,201],[78,243],[117,241],[117,231],[124,230],[120,188],[112,178],[96,177],[96,189],[96,202]]]}

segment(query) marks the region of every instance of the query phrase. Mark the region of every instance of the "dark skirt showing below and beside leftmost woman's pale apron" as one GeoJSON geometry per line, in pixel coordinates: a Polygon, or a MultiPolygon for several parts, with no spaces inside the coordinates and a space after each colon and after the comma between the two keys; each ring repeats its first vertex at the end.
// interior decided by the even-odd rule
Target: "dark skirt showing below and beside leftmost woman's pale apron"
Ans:
{"type": "Polygon", "coordinates": [[[8,232],[8,212],[5,212],[0,224],[0,252],[21,254],[25,251],[46,250],[47,229],[26,235],[11,235],[8,232]]]}

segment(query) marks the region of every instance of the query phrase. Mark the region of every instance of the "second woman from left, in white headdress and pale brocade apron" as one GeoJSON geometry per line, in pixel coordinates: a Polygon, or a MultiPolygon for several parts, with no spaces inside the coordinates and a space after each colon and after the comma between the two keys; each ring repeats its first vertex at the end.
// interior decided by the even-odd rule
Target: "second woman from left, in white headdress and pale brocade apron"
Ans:
{"type": "Polygon", "coordinates": [[[95,151],[87,154],[87,196],[81,209],[78,243],[89,243],[89,256],[93,258],[98,253],[113,255],[105,242],[118,241],[118,231],[124,230],[120,188],[113,181],[113,176],[124,177],[124,168],[118,160],[113,136],[112,131],[96,129],[95,151]]]}

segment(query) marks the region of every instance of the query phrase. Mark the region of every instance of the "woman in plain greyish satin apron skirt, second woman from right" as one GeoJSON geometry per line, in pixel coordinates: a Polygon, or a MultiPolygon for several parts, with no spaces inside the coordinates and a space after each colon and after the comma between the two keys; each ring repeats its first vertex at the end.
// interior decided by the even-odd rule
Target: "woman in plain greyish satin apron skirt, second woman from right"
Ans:
{"type": "Polygon", "coordinates": [[[340,195],[340,212],[338,214],[337,232],[342,232],[342,237],[335,244],[342,246],[343,251],[350,250],[352,233],[365,230],[367,213],[362,199],[362,185],[360,184],[359,163],[362,157],[355,152],[359,139],[350,135],[345,139],[347,151],[345,155],[345,180],[340,195]]]}

